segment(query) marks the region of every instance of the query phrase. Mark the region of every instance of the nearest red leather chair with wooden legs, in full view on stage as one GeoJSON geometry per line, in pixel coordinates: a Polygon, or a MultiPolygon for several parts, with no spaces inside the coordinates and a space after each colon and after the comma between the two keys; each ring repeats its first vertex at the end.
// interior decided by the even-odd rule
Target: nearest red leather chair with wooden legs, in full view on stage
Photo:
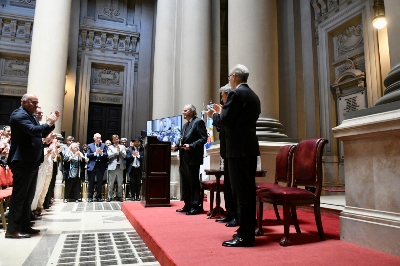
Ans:
{"type": "Polygon", "coordinates": [[[296,206],[314,204],[314,216],[321,240],[325,240],[320,212],[320,196],[322,190],[322,151],[326,139],[308,139],[300,141],[296,147],[293,163],[293,186],[272,187],[257,190],[258,228],[262,235],[262,202],[283,206],[284,237],[280,240],[281,246],[290,246],[289,226],[290,212],[296,232],[301,233],[297,220],[296,206]],[[316,187],[315,193],[300,189],[298,186],[316,187]]]}

